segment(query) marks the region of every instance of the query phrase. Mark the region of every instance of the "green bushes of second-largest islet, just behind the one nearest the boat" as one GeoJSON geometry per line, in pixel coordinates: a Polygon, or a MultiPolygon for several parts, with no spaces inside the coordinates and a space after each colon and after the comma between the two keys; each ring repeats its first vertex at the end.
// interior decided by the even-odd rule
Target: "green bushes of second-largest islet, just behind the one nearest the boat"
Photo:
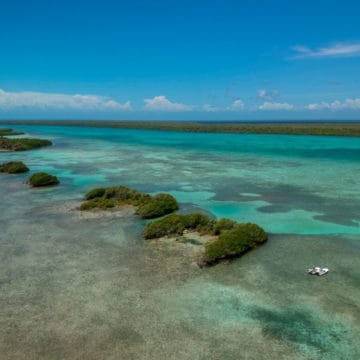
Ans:
{"type": "Polygon", "coordinates": [[[151,196],[126,186],[97,188],[85,195],[87,200],[80,210],[109,209],[121,205],[137,207],[136,213],[144,219],[170,214],[178,209],[176,199],[169,194],[151,196]]]}

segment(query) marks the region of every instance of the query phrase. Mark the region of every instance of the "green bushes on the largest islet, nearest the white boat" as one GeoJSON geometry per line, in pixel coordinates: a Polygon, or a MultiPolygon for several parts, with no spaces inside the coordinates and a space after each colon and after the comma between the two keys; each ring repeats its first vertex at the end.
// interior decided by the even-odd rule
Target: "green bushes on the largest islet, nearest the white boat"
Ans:
{"type": "Polygon", "coordinates": [[[144,237],[154,239],[163,236],[181,236],[185,230],[217,236],[205,244],[202,262],[206,265],[240,256],[267,240],[265,231],[256,224],[238,224],[229,219],[216,221],[200,213],[172,214],[150,222],[145,227],[144,237]]]}

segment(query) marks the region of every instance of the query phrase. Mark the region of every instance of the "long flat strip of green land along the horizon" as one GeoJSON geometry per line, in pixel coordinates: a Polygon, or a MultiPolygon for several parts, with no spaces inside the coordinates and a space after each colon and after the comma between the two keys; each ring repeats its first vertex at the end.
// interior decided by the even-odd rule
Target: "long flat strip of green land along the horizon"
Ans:
{"type": "Polygon", "coordinates": [[[360,137],[360,122],[188,122],[188,121],[88,121],[88,120],[1,120],[6,125],[84,126],[193,133],[282,134],[360,137]]]}

